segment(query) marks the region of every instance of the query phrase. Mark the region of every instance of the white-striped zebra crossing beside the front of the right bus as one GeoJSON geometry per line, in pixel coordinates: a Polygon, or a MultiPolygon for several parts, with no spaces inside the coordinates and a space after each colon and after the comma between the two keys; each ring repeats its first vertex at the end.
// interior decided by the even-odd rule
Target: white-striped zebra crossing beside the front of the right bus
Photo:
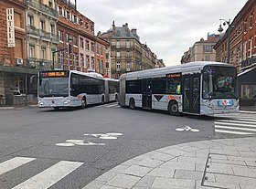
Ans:
{"type": "Polygon", "coordinates": [[[214,121],[217,133],[252,135],[256,134],[256,114],[222,116],[214,121]]]}

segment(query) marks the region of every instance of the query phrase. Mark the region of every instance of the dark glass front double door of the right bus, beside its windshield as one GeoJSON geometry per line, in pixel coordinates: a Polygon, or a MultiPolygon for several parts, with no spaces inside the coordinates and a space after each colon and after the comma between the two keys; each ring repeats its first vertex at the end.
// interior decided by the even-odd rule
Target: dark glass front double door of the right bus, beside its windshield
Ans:
{"type": "Polygon", "coordinates": [[[183,111],[200,113],[200,74],[182,76],[183,111]]]}

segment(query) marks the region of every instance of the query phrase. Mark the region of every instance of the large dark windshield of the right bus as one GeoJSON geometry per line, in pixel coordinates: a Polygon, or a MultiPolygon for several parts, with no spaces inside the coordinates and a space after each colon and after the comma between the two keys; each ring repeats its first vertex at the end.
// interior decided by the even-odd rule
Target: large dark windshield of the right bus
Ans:
{"type": "Polygon", "coordinates": [[[203,69],[203,99],[237,99],[236,68],[207,66],[203,69]]]}

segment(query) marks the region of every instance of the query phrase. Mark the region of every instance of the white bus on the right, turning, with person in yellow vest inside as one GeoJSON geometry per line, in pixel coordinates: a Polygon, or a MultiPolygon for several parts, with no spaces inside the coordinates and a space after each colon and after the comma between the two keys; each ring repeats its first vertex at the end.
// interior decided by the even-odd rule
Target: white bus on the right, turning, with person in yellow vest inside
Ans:
{"type": "Polygon", "coordinates": [[[119,103],[172,115],[238,112],[237,70],[226,63],[199,61],[125,73],[119,103]]]}

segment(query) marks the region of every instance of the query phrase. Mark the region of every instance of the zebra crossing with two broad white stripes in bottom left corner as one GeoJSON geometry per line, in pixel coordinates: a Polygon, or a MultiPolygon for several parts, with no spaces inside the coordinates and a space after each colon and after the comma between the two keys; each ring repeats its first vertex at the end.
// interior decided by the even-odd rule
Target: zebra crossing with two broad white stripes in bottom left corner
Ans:
{"type": "MultiPolygon", "coordinates": [[[[6,160],[5,162],[0,163],[0,183],[1,178],[7,177],[5,174],[18,172],[18,169],[26,170],[29,166],[33,166],[37,158],[29,157],[14,157],[12,159],[6,160]]],[[[52,164],[50,167],[45,167],[45,169],[35,175],[32,175],[30,178],[27,178],[25,181],[18,183],[16,179],[10,179],[5,181],[10,183],[13,189],[47,189],[53,184],[58,183],[61,179],[69,175],[69,173],[74,172],[78,169],[83,163],[80,162],[71,162],[71,161],[59,161],[58,163],[52,164]],[[13,181],[17,183],[14,184],[13,181]]],[[[5,180],[5,179],[3,179],[5,180]]],[[[0,184],[0,188],[6,187],[0,184]]],[[[9,187],[8,187],[9,188],[9,187]]]]}

